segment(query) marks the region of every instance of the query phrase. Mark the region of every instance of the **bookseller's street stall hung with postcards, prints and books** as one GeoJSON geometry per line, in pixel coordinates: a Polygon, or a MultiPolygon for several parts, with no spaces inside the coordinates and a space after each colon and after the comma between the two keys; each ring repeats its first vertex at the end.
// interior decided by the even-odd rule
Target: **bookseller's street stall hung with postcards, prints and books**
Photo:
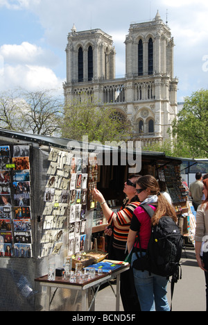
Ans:
{"type": "MultiPolygon", "coordinates": [[[[0,310],[44,310],[46,290],[35,278],[47,274],[51,259],[62,268],[67,256],[93,248],[106,224],[92,190],[119,208],[128,163],[105,164],[111,147],[83,149],[73,140],[2,129],[0,150],[0,310]]],[[[142,152],[139,174],[173,177],[168,190],[175,208],[184,208],[179,166],[164,153],[142,152]]],[[[78,310],[80,300],[77,292],[54,288],[51,310],[78,310]]]]}

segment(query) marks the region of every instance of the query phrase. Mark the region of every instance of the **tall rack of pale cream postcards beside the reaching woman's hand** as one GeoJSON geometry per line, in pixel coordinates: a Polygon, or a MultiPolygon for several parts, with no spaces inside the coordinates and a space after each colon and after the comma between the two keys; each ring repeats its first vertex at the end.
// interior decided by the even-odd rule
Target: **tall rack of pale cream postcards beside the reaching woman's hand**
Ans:
{"type": "Polygon", "coordinates": [[[86,213],[87,209],[95,207],[92,190],[96,187],[97,162],[96,157],[77,157],[58,149],[51,149],[49,162],[40,256],[59,254],[65,236],[67,247],[64,247],[64,255],[67,257],[84,251],[88,246],[85,245],[86,213]]]}

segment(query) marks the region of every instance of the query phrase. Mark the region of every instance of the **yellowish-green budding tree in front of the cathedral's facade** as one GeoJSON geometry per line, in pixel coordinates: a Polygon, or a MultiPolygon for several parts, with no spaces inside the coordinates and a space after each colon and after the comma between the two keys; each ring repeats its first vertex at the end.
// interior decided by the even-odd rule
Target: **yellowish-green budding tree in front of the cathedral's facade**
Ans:
{"type": "Polygon", "coordinates": [[[106,105],[96,103],[92,98],[75,100],[64,108],[62,136],[73,140],[89,142],[125,141],[130,137],[130,123],[125,117],[106,105]]]}

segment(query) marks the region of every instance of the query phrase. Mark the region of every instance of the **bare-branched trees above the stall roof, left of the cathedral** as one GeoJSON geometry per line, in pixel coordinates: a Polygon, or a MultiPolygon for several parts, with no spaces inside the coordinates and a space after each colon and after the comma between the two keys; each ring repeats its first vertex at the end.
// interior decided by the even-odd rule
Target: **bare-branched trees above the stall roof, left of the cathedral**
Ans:
{"type": "Polygon", "coordinates": [[[58,135],[62,107],[63,100],[55,97],[53,90],[2,92],[0,127],[39,135],[58,135]]]}

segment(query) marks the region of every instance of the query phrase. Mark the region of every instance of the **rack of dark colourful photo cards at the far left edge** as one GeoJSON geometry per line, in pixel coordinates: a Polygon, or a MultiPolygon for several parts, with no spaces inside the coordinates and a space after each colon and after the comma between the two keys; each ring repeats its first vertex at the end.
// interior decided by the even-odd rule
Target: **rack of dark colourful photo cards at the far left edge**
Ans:
{"type": "Polygon", "coordinates": [[[30,146],[0,147],[0,257],[31,258],[30,146]]]}

